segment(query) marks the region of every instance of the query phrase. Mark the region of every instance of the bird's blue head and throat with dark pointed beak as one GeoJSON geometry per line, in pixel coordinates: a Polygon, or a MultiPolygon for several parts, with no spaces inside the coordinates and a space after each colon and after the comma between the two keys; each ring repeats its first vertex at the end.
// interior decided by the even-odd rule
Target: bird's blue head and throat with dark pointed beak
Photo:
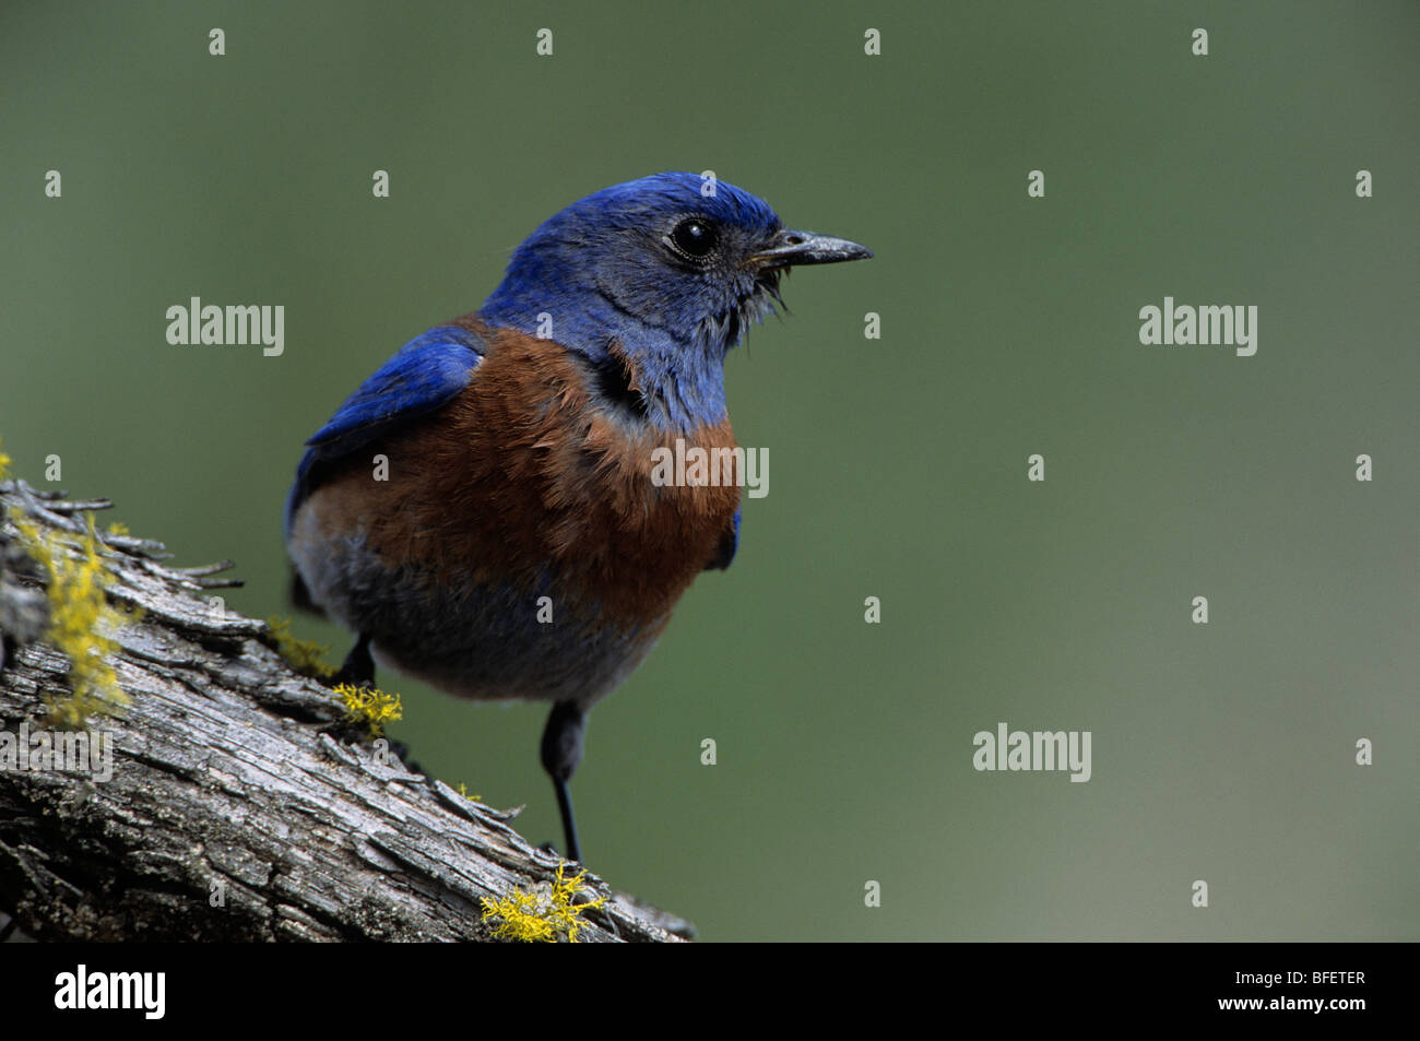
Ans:
{"type": "Polygon", "coordinates": [[[645,418],[692,430],[726,415],[724,355],[774,311],[795,264],[870,257],[792,231],[723,180],[656,173],[572,203],[518,246],[480,315],[577,351],[645,418]]]}

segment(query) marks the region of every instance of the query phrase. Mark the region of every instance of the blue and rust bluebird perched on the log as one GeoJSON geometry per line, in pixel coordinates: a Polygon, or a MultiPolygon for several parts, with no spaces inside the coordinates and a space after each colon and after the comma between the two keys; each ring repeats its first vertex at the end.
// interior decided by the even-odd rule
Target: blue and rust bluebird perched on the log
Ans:
{"type": "Polygon", "coordinates": [[[293,591],[358,633],[341,677],[372,683],[378,659],[463,697],[552,702],[542,765],[579,861],[586,710],[740,537],[738,487],[656,481],[653,453],[734,447],[724,356],[782,304],[781,273],[870,256],[693,173],[544,223],[479,311],[405,344],[307,442],[293,591]]]}

